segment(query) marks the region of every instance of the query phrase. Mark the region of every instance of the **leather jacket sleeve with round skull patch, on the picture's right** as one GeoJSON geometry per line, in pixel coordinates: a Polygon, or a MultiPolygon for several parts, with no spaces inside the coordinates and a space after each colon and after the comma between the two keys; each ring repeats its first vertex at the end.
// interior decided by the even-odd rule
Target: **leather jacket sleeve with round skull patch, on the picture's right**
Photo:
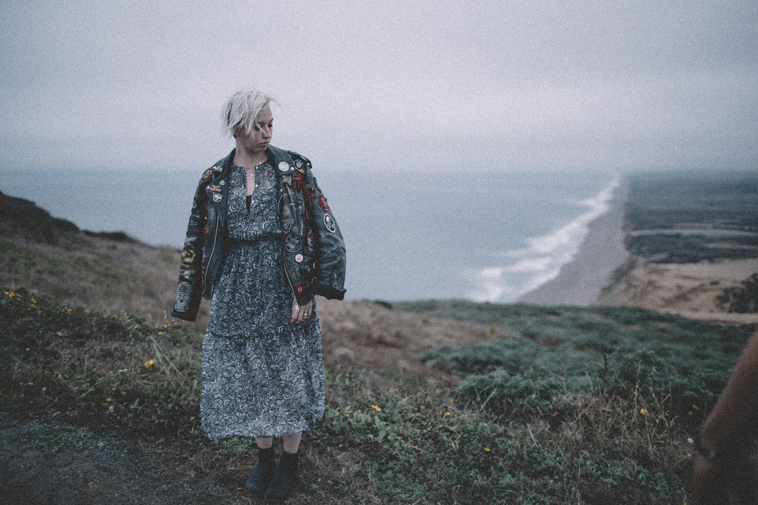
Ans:
{"type": "Polygon", "coordinates": [[[309,182],[309,195],[305,202],[309,211],[311,226],[315,230],[316,260],[312,292],[324,298],[342,300],[345,298],[345,241],[340,226],[334,219],[327,198],[321,192],[311,173],[310,163],[306,167],[305,179],[309,182]]]}

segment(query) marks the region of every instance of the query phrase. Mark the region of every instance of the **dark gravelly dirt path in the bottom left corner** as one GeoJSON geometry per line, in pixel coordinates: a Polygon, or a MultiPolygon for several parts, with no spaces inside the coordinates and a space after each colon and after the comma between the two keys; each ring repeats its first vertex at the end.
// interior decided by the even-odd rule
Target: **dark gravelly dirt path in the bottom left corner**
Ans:
{"type": "Polygon", "coordinates": [[[150,454],[62,422],[20,424],[0,414],[0,503],[263,503],[243,488],[252,455],[224,462],[150,454]]]}

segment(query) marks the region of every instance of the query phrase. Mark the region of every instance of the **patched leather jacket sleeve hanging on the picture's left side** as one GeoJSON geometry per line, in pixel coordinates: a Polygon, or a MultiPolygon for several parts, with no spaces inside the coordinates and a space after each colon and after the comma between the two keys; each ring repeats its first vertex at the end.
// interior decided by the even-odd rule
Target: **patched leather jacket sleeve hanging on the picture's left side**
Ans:
{"type": "Polygon", "coordinates": [[[206,170],[203,173],[195,192],[181,254],[177,295],[174,298],[174,308],[171,310],[171,316],[185,321],[195,320],[202,297],[202,240],[205,209],[208,204],[205,182],[210,178],[210,171],[206,170]]]}

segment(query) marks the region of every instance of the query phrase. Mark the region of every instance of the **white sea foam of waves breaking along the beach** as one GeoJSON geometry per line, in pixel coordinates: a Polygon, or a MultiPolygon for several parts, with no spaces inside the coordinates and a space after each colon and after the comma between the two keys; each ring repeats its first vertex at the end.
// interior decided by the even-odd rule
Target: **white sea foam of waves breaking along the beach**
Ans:
{"type": "Polygon", "coordinates": [[[509,263],[471,272],[469,280],[474,288],[468,292],[468,298],[512,301],[555,279],[584,242],[590,222],[609,209],[609,201],[618,187],[619,179],[614,179],[594,197],[579,202],[589,207],[584,214],[547,235],[528,238],[528,247],[496,253],[509,263]]]}

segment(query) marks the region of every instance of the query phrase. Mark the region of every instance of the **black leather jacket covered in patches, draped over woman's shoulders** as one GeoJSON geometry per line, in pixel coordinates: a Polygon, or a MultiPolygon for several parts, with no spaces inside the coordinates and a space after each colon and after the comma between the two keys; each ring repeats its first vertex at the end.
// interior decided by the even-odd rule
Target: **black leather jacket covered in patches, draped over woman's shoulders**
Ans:
{"type": "MultiPolygon", "coordinates": [[[[279,216],[284,234],[284,275],[299,304],[313,295],[345,297],[345,242],[327,199],[311,173],[308,158],[269,145],[277,172],[279,216]]],[[[224,261],[229,172],[234,151],[205,170],[189,215],[179,284],[171,315],[194,321],[200,299],[211,298],[224,261]]]]}

